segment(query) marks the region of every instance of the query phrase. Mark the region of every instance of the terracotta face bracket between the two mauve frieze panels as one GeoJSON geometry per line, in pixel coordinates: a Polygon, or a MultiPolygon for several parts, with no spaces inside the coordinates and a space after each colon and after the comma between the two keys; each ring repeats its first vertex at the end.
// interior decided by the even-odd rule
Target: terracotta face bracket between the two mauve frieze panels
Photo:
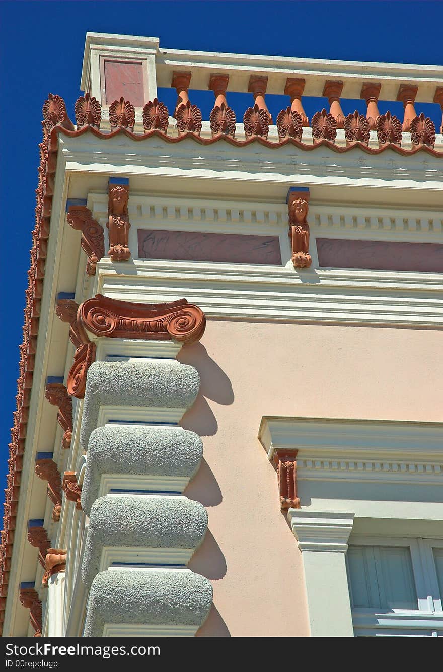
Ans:
{"type": "Polygon", "coordinates": [[[309,189],[295,187],[287,195],[289,212],[289,238],[291,239],[292,263],[294,268],[309,268],[312,263],[309,255],[309,189]]]}

